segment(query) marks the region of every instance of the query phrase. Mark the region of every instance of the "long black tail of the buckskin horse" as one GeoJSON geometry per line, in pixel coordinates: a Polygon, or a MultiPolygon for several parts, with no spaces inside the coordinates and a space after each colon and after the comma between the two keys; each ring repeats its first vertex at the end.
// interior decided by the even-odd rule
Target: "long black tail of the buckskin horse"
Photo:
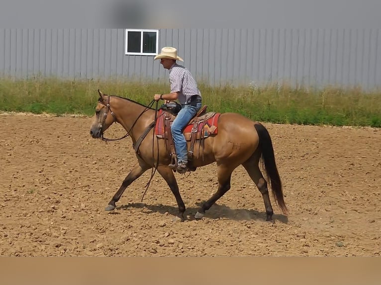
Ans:
{"type": "Polygon", "coordinates": [[[275,203],[281,208],[284,214],[287,214],[288,210],[283,197],[281,177],[279,176],[277,164],[275,163],[274,148],[270,134],[265,126],[259,122],[256,122],[254,127],[258,133],[259,146],[262,150],[262,163],[265,166],[265,174],[273,192],[275,203]]]}

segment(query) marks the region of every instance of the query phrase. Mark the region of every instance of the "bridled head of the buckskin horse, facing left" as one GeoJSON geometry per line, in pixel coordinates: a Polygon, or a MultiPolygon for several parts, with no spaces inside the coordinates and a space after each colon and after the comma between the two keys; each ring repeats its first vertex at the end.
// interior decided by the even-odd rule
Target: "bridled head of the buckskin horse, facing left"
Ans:
{"type": "Polygon", "coordinates": [[[93,124],[90,128],[90,135],[94,139],[102,138],[103,132],[115,122],[115,115],[110,110],[110,96],[98,90],[99,99],[95,107],[93,124]]]}

